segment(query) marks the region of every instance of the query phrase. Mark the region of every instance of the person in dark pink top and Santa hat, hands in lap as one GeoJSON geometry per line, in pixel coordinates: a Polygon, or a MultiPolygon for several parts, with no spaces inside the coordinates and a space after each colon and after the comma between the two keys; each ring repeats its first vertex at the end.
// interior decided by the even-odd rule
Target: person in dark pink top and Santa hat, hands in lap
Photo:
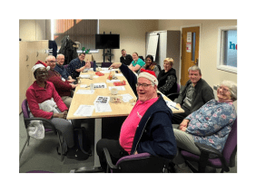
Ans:
{"type": "Polygon", "coordinates": [[[72,124],[68,120],[65,120],[68,109],[55,90],[54,84],[46,81],[48,72],[45,63],[35,63],[32,71],[34,72],[36,81],[27,89],[25,94],[31,113],[35,118],[44,118],[54,123],[56,130],[59,130],[63,135],[64,146],[67,146],[68,158],[87,158],[87,156],[74,145],[74,128],[79,129],[81,124],[78,124],[76,120],[73,120],[72,124]],[[60,113],[40,110],[39,104],[51,100],[52,98],[61,111],[60,113]]]}

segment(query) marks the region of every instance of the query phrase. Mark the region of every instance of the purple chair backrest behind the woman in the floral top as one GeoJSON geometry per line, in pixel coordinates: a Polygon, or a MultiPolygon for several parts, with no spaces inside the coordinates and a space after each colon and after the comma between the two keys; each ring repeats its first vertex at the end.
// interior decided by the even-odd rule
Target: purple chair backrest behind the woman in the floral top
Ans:
{"type": "Polygon", "coordinates": [[[231,126],[231,132],[225,143],[224,149],[222,150],[223,158],[225,158],[226,163],[229,167],[232,167],[232,165],[230,164],[234,160],[231,158],[235,158],[235,156],[232,156],[232,154],[233,154],[233,151],[236,150],[236,146],[237,146],[237,119],[233,122],[231,126]]]}

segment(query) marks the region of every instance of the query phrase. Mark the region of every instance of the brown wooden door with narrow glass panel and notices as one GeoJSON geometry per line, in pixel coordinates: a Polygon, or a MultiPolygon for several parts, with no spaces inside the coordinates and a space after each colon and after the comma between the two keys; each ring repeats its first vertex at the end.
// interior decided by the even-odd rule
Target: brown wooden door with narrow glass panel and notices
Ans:
{"type": "Polygon", "coordinates": [[[189,80],[188,69],[199,62],[199,33],[199,26],[182,28],[182,86],[189,80]]]}

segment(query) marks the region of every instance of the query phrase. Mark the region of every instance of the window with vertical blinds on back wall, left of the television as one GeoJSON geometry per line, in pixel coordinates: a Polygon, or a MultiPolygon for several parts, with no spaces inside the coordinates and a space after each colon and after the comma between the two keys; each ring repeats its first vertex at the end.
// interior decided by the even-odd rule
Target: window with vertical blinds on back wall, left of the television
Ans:
{"type": "Polygon", "coordinates": [[[82,52],[90,49],[90,53],[95,51],[95,34],[99,32],[99,20],[85,20],[85,19],[54,19],[52,20],[52,29],[54,34],[54,41],[58,47],[61,46],[64,36],[68,35],[73,42],[81,43],[78,48],[82,52]]]}

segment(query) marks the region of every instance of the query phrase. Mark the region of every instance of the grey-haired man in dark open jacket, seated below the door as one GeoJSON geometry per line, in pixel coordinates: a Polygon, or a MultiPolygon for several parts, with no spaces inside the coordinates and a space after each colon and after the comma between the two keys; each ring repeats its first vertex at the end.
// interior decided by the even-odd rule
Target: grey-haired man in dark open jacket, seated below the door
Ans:
{"type": "Polygon", "coordinates": [[[193,111],[198,110],[206,102],[214,99],[212,87],[202,79],[200,68],[194,65],[188,71],[190,80],[186,82],[176,101],[184,112],[173,114],[172,124],[180,124],[193,111]]]}

